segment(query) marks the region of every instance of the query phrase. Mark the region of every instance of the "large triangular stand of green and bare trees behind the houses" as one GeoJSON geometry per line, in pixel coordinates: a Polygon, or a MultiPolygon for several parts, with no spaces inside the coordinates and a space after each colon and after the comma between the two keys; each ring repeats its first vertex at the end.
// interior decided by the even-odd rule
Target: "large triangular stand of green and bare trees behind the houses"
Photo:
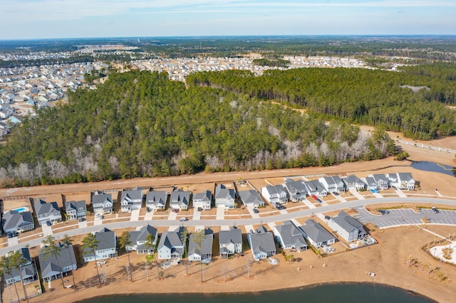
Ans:
{"type": "Polygon", "coordinates": [[[0,146],[5,186],[331,165],[394,152],[385,132],[301,115],[166,73],[110,73],[38,110],[0,146]]]}

